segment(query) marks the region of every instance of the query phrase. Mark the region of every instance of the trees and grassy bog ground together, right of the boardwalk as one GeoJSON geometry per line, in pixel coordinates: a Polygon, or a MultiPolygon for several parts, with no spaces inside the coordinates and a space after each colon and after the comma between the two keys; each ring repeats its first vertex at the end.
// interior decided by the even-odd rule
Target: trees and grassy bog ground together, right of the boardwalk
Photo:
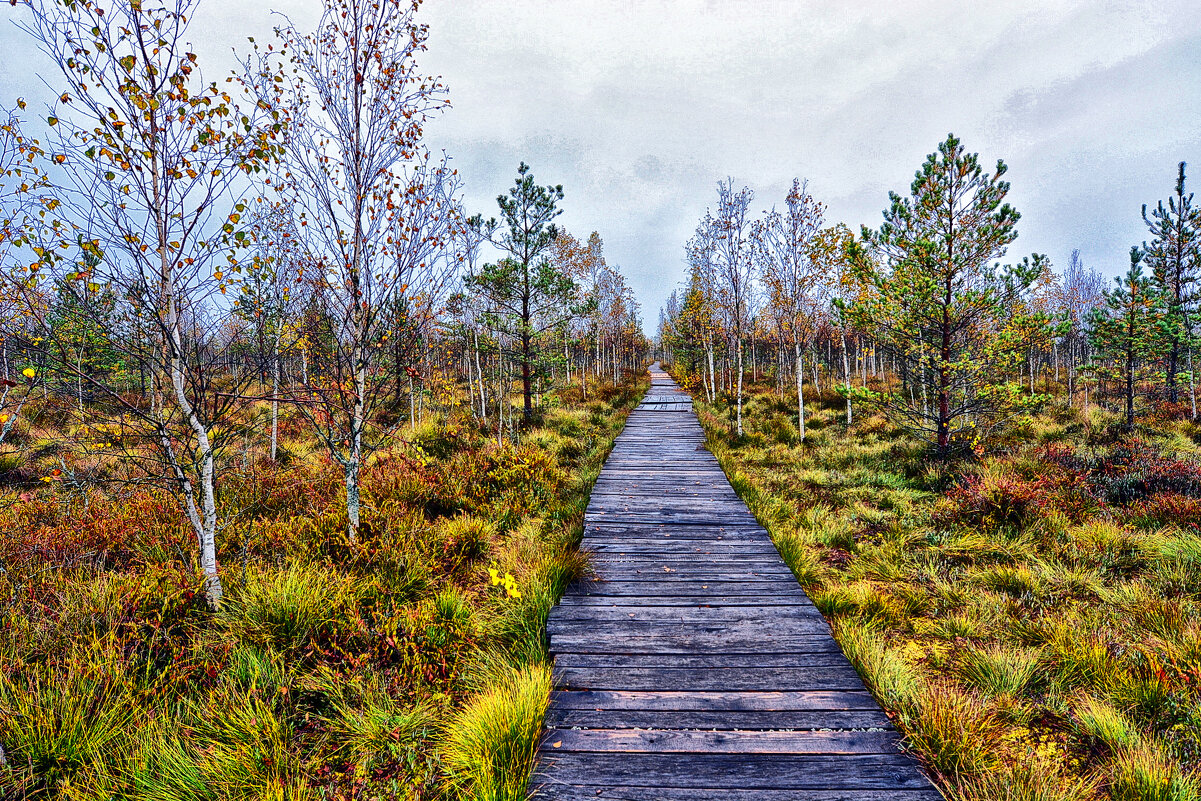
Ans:
{"type": "Polygon", "coordinates": [[[1201,213],[1002,264],[954,136],[878,229],[718,185],[661,313],[710,447],[948,797],[1201,797],[1201,213]]]}

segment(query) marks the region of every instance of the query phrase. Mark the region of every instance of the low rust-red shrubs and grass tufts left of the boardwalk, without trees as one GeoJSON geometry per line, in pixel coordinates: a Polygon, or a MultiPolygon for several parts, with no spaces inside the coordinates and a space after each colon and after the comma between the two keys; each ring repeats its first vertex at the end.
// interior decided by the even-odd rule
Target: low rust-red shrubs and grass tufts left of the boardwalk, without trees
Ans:
{"type": "Polygon", "coordinates": [[[172,498],[6,491],[0,797],[524,799],[545,616],[645,385],[551,396],[519,446],[461,412],[402,430],[357,543],[298,431],[282,465],[247,452],[215,612],[172,498]]]}

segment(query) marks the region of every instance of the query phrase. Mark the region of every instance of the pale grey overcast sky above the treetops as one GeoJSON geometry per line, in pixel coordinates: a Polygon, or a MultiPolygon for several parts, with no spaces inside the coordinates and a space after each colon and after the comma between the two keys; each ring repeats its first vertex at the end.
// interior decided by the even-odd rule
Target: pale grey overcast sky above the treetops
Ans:
{"type": "MultiPolygon", "coordinates": [[[[202,4],[210,77],[268,36],[273,7],[316,19],[315,0],[202,4]]],[[[468,210],[495,214],[521,160],[562,184],[561,222],[600,233],[647,329],[727,175],[763,208],[807,178],[858,231],[955,132],[1010,167],[1010,256],[1062,267],[1078,247],[1116,274],[1145,238],[1141,205],[1167,197],[1178,161],[1201,171],[1195,0],[426,0],[422,17],[423,64],[453,103],[430,144],[455,159],[468,210]]],[[[29,50],[5,25],[6,106],[40,96],[29,50]]]]}

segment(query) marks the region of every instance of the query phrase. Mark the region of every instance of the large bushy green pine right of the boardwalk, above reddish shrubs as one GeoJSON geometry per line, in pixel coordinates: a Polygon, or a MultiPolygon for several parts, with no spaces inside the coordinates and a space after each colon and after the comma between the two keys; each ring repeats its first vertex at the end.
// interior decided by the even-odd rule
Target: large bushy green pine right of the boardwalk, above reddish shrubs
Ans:
{"type": "MultiPolygon", "coordinates": [[[[1006,167],[985,173],[954,135],[927,156],[910,196],[891,193],[879,231],[853,253],[865,286],[849,318],[895,359],[909,388],[853,390],[939,455],[1004,423],[1030,399],[1006,377],[1023,342],[999,336],[1016,295],[1038,279],[1029,261],[1000,275],[988,263],[1017,237],[1004,202],[1006,167]],[[925,399],[930,399],[930,404],[925,399]]],[[[1035,259],[1039,268],[1041,258],[1035,259]]]]}

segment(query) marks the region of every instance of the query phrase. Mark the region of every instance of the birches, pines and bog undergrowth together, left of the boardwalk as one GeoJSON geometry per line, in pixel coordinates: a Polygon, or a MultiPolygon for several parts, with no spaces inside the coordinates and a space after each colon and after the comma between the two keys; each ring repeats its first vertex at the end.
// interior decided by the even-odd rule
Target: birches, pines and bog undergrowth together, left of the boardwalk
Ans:
{"type": "Polygon", "coordinates": [[[229,80],[195,0],[30,0],[0,126],[0,797],[524,797],[544,622],[644,388],[562,186],[423,141],[417,2],[229,80]]]}

